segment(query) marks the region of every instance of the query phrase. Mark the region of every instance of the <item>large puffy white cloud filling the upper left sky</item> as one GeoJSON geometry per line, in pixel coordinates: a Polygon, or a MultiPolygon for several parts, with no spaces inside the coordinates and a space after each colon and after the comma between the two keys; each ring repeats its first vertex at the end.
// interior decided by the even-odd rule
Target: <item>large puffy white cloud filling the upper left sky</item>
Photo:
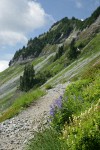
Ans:
{"type": "Polygon", "coordinates": [[[53,21],[37,1],[0,0],[0,44],[26,43],[27,33],[53,21]]]}

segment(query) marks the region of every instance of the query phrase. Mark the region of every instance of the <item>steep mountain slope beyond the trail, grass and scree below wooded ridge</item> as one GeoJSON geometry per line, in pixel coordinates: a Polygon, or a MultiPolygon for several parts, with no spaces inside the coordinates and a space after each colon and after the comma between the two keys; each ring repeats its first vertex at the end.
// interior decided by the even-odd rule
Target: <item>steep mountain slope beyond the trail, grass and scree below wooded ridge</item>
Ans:
{"type": "Polygon", "coordinates": [[[99,56],[99,11],[100,7],[92,14],[91,17],[86,19],[92,21],[84,20],[84,22],[82,22],[75,18],[68,19],[66,17],[55,23],[49,32],[40,35],[38,38],[33,40],[31,39],[28,42],[26,48],[24,47],[20,51],[16,52],[14,58],[10,62],[11,66],[4,72],[0,73],[1,112],[5,111],[8,107],[13,105],[17,97],[23,94],[18,90],[20,81],[19,79],[23,74],[24,66],[28,62],[34,65],[36,78],[45,77],[46,81],[51,78],[50,81],[48,80],[46,84],[51,84],[52,81],[52,85],[55,85],[56,83],[63,82],[64,80],[68,81],[70,77],[73,77],[76,75],[76,73],[82,70],[79,70],[78,67],[83,68],[83,66],[87,65],[90,61],[99,56]],[[86,22],[88,27],[80,29],[81,25],[84,23],[86,26],[86,22]],[[68,33],[70,27],[72,27],[72,29],[68,33]],[[60,38],[57,36],[58,33],[62,35],[60,38]],[[55,37],[56,41],[54,40],[55,37]],[[71,49],[70,43],[73,39],[74,50],[76,53],[77,50],[79,50],[79,54],[74,59],[69,58],[69,52],[71,49]],[[63,47],[60,50],[61,46],[63,47]],[[34,53],[35,51],[39,52],[39,56],[34,56],[33,54],[30,55],[31,52],[34,53]],[[22,54],[25,54],[24,58],[22,58],[22,54]],[[92,56],[92,54],[95,55],[92,56]],[[81,65],[76,67],[77,63],[81,65]]]}

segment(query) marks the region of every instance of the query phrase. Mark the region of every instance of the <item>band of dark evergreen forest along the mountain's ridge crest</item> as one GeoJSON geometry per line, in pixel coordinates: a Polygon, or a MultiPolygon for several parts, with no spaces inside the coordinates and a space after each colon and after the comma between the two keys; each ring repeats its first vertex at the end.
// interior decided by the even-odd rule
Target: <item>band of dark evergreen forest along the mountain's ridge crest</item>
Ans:
{"type": "Polygon", "coordinates": [[[89,27],[92,23],[96,21],[100,14],[100,7],[91,15],[91,17],[85,19],[84,21],[78,20],[74,17],[72,19],[68,19],[67,17],[55,23],[49,32],[40,35],[38,38],[30,39],[27,43],[27,46],[23,47],[19,51],[16,51],[13,59],[10,62],[10,65],[18,61],[19,58],[22,60],[28,58],[29,56],[34,58],[38,57],[42,52],[42,49],[47,44],[59,44],[64,38],[69,37],[70,33],[76,30],[83,30],[86,27],[89,27]],[[57,27],[56,27],[57,26],[57,27]]]}

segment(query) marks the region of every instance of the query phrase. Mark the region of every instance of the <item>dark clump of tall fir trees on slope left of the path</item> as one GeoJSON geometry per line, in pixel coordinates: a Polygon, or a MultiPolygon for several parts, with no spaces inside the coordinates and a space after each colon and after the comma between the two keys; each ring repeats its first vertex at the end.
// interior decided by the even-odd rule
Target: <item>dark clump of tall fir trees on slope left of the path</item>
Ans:
{"type": "Polygon", "coordinates": [[[24,68],[23,76],[20,76],[20,90],[28,91],[35,84],[35,71],[31,64],[28,64],[24,68]]]}

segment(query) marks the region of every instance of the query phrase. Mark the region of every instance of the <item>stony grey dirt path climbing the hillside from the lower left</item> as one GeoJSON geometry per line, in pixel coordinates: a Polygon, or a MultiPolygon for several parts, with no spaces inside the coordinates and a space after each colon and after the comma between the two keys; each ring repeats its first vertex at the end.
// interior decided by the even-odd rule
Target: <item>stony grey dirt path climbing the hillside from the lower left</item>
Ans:
{"type": "Polygon", "coordinates": [[[18,116],[0,124],[0,150],[23,150],[25,144],[34,136],[41,125],[45,125],[49,115],[50,105],[60,95],[63,95],[66,84],[59,84],[48,90],[33,106],[21,112],[18,116]]]}

